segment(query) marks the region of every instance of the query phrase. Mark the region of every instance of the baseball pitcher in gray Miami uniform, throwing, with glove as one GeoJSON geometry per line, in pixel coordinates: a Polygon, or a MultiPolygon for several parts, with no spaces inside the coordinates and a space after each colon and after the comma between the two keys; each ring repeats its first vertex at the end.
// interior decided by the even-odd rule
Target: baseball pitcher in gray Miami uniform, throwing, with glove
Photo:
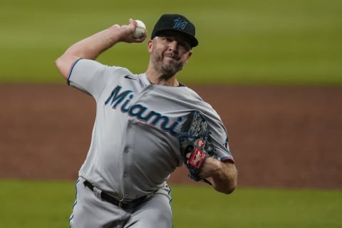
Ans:
{"type": "MultiPolygon", "coordinates": [[[[115,43],[144,41],[146,32],[133,37],[136,26],[133,19],[127,25],[115,24],[73,44],[56,60],[68,85],[96,101],[71,227],[172,227],[167,179],[183,163],[195,167],[190,177],[205,180],[218,192],[230,194],[237,185],[222,120],[195,91],[177,81],[177,73],[198,44],[192,22],[179,14],[160,17],[147,41],[150,61],[145,73],[95,61],[115,43]],[[198,118],[190,118],[194,112],[198,118]],[[187,125],[197,133],[183,133],[180,138],[187,125]],[[185,145],[185,150],[181,144],[187,137],[196,145],[185,145]]],[[[120,53],[113,58],[120,58],[120,53]]]]}

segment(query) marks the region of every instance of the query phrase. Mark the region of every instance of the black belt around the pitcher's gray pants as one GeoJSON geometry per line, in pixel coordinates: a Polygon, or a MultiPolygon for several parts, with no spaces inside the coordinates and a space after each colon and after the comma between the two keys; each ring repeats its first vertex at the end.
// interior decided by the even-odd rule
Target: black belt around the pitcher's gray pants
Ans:
{"type": "MultiPolygon", "coordinates": [[[[96,188],[98,194],[100,195],[101,199],[110,202],[122,209],[134,209],[138,207],[145,199],[147,199],[149,196],[143,196],[139,197],[138,199],[133,199],[133,201],[123,201],[123,199],[117,199],[110,195],[108,192],[104,192],[103,190],[98,189],[97,187],[94,187],[88,180],[83,182],[84,186],[88,187],[90,190],[94,192],[94,188],[96,188]],[[99,190],[99,191],[98,191],[99,190]]],[[[96,195],[96,192],[94,192],[96,195]]]]}

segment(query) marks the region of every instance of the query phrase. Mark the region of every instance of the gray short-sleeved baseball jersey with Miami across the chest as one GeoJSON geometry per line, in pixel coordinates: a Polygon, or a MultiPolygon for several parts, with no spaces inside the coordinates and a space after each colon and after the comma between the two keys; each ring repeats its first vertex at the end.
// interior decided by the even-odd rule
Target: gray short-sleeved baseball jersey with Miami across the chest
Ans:
{"type": "Polygon", "coordinates": [[[68,83],[96,101],[91,144],[79,175],[102,190],[135,199],[164,187],[182,165],[177,134],[192,110],[207,117],[219,159],[233,159],[219,115],[187,86],[155,85],[145,73],[86,59],[73,64],[68,83]]]}

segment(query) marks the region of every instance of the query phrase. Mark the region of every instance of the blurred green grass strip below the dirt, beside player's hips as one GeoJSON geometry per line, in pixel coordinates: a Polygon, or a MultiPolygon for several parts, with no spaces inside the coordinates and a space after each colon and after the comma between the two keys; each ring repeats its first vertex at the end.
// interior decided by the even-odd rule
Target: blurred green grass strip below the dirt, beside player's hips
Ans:
{"type": "MultiPolygon", "coordinates": [[[[0,187],[1,227],[68,227],[75,201],[73,182],[0,180],[0,187]]],[[[227,196],[207,185],[171,185],[171,188],[177,228],[338,228],[342,225],[341,191],[239,188],[227,196]]]]}

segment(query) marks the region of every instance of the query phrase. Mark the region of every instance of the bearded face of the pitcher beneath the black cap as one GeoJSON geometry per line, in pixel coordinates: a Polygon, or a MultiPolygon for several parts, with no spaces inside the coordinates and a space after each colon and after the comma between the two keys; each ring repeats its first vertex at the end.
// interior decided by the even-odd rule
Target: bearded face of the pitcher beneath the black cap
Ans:
{"type": "Polygon", "coordinates": [[[190,42],[186,36],[177,32],[165,32],[155,36],[148,43],[148,51],[155,70],[168,77],[182,70],[192,55],[190,42]]]}

